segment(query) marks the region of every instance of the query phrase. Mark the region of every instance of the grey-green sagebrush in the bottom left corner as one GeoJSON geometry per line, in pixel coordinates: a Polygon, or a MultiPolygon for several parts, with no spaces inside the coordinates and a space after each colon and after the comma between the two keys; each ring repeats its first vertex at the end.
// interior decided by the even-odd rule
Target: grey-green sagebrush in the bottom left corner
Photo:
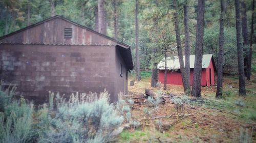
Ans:
{"type": "Polygon", "coordinates": [[[13,101],[0,112],[0,142],[31,142],[36,135],[33,128],[33,104],[13,101]]]}

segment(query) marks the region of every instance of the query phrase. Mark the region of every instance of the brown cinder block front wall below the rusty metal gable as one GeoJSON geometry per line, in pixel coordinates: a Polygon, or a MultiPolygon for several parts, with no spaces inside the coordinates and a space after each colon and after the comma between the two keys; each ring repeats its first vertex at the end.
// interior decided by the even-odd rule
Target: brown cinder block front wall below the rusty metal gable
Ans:
{"type": "Polygon", "coordinates": [[[0,44],[0,80],[35,103],[47,102],[48,91],[69,96],[104,89],[114,101],[115,57],[115,46],[0,44]]]}

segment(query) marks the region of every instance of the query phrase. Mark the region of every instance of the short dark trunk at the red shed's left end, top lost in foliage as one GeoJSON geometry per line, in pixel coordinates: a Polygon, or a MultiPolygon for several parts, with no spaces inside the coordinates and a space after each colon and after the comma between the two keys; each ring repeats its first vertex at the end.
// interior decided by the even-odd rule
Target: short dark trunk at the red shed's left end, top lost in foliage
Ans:
{"type": "Polygon", "coordinates": [[[151,87],[156,88],[158,82],[158,70],[157,70],[157,61],[156,61],[156,49],[153,49],[154,55],[152,58],[153,61],[153,69],[151,76],[151,87]]]}

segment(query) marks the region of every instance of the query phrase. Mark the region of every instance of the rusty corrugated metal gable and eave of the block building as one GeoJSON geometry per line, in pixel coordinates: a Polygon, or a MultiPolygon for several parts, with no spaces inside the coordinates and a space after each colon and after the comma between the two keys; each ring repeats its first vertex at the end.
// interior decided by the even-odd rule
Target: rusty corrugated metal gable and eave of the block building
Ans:
{"type": "Polygon", "coordinates": [[[0,37],[0,44],[116,46],[128,70],[134,68],[130,45],[58,15],[0,37]],[[63,38],[63,27],[73,28],[72,39],[63,38]]]}

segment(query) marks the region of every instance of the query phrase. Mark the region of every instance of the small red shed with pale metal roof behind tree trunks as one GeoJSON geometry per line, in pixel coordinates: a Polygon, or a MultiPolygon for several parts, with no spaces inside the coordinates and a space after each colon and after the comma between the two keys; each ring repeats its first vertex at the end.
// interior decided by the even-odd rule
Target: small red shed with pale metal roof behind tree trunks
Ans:
{"type": "MultiPolygon", "coordinates": [[[[183,56],[185,62],[185,56],[183,56]]],[[[193,83],[195,55],[190,55],[190,85],[193,83]]],[[[164,59],[158,64],[159,81],[164,82],[164,59]]],[[[214,85],[214,72],[216,71],[212,54],[203,54],[202,60],[202,86],[214,85]]],[[[183,85],[178,56],[167,57],[167,84],[183,85]]]]}

